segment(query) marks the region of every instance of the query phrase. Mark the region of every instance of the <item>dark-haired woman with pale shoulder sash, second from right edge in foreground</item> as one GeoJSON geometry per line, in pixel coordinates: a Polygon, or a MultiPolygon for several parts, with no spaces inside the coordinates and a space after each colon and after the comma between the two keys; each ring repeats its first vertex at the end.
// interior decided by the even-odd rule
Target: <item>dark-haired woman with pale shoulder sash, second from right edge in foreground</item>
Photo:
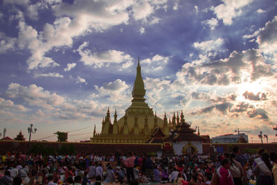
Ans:
{"type": "Polygon", "coordinates": [[[262,153],[262,161],[258,162],[258,164],[253,168],[253,173],[256,175],[257,182],[259,185],[273,185],[272,180],[272,166],[269,161],[269,155],[267,152],[262,153]]]}

